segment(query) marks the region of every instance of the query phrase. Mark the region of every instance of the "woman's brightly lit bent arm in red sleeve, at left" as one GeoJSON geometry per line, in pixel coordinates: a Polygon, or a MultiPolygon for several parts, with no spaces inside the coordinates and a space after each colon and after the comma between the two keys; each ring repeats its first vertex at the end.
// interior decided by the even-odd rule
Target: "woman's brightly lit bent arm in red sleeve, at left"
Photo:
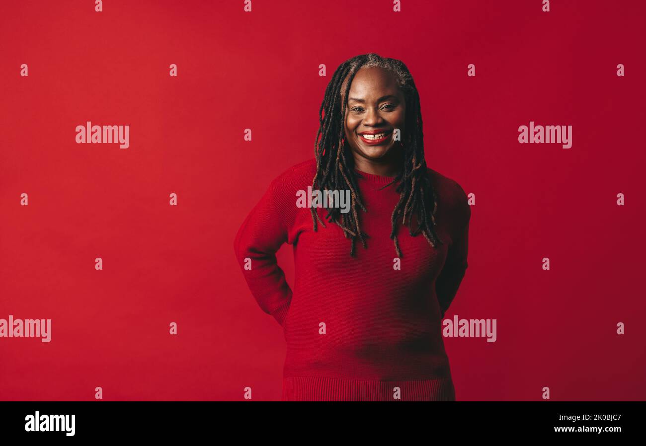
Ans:
{"type": "Polygon", "coordinates": [[[283,326],[292,292],[276,262],[276,251],[287,241],[287,227],[280,209],[276,209],[273,186],[274,183],[242,223],[233,245],[251,294],[260,308],[283,326]],[[245,258],[251,259],[251,269],[245,269],[249,264],[245,258]]]}

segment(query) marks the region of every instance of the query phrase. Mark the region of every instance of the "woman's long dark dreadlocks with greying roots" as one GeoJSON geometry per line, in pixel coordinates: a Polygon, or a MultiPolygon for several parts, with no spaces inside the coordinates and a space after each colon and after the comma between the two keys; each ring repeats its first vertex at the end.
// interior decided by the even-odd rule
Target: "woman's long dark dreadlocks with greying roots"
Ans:
{"type": "MultiPolygon", "coordinates": [[[[332,204],[329,206],[326,219],[336,223],[343,230],[345,238],[351,239],[350,256],[355,256],[355,241],[359,239],[362,246],[367,248],[368,234],[360,229],[358,209],[368,212],[362,202],[357,177],[354,169],[354,159],[349,152],[345,137],[345,110],[348,104],[348,94],[352,79],[360,68],[377,66],[389,70],[397,78],[397,84],[406,98],[405,136],[401,141],[404,151],[404,163],[388,187],[401,180],[396,192],[399,202],[391,216],[392,230],[390,238],[395,244],[395,252],[402,257],[397,242],[397,222],[402,219],[402,225],[408,225],[410,235],[415,237],[420,232],[428,243],[435,248],[436,244],[444,243],[435,231],[435,212],[437,211],[437,195],[432,186],[426,160],[424,159],[424,139],[422,134],[422,115],[419,103],[419,93],[413,82],[408,68],[402,61],[381,57],[378,54],[362,54],[348,59],[334,72],[325,91],[319,114],[320,127],[315,141],[317,173],[312,181],[312,188],[318,190],[349,190],[351,212],[345,214],[332,204]],[[347,86],[343,88],[348,77],[347,86]],[[343,96],[340,100],[340,96],[343,96]],[[432,208],[431,208],[432,203],[432,208]],[[412,228],[412,216],[417,216],[417,228],[412,228]],[[408,223],[406,219],[408,218],[408,223]]],[[[382,188],[384,188],[382,187],[382,188]]],[[[323,192],[326,193],[326,192],[323,192]]],[[[326,227],[318,216],[315,206],[310,209],[314,230],[318,223],[326,227]]]]}

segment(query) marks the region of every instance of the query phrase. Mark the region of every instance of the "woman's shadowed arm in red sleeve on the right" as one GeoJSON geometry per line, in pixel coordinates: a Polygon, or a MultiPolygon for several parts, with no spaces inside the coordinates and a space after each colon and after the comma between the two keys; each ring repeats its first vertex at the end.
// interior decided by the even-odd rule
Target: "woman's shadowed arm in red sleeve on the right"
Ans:
{"type": "MultiPolygon", "coordinates": [[[[457,183],[456,183],[457,185],[457,183]]],[[[452,244],[448,248],[446,262],[435,281],[435,292],[440,304],[442,317],[450,307],[457,290],[462,283],[468,263],[466,261],[469,244],[469,221],[471,218],[471,207],[468,204],[466,193],[462,187],[457,185],[457,198],[455,210],[452,212],[455,223],[452,234],[452,244]]]]}

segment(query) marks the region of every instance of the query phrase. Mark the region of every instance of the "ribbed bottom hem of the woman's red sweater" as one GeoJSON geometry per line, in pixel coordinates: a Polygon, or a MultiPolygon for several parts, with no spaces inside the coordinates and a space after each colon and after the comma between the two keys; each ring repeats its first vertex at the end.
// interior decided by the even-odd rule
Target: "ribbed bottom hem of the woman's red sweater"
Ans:
{"type": "Polygon", "coordinates": [[[451,378],[364,381],[300,376],[283,378],[282,401],[455,401],[451,378]],[[394,387],[399,387],[395,399],[394,387]]]}

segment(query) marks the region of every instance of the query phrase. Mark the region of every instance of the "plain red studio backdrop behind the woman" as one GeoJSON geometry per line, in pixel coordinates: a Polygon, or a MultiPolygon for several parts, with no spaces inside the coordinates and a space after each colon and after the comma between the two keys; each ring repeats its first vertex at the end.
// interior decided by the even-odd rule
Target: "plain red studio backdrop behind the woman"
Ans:
{"type": "MultiPolygon", "coordinates": [[[[445,338],[457,400],[541,400],[544,386],[552,400],[646,399],[645,11],[7,2],[0,318],[50,318],[52,341],[0,338],[0,399],[93,400],[101,386],[104,400],[242,400],[251,386],[280,400],[282,329],[245,286],[233,238],[271,179],[313,157],[329,79],[366,52],[406,63],[429,167],[476,197],[446,318],[495,318],[498,332],[445,338]],[[130,147],[77,144],[86,121],[130,125],[130,147]],[[519,144],[529,121],[572,125],[572,148],[519,144]]],[[[291,282],[290,249],[278,261],[291,282]]]]}

